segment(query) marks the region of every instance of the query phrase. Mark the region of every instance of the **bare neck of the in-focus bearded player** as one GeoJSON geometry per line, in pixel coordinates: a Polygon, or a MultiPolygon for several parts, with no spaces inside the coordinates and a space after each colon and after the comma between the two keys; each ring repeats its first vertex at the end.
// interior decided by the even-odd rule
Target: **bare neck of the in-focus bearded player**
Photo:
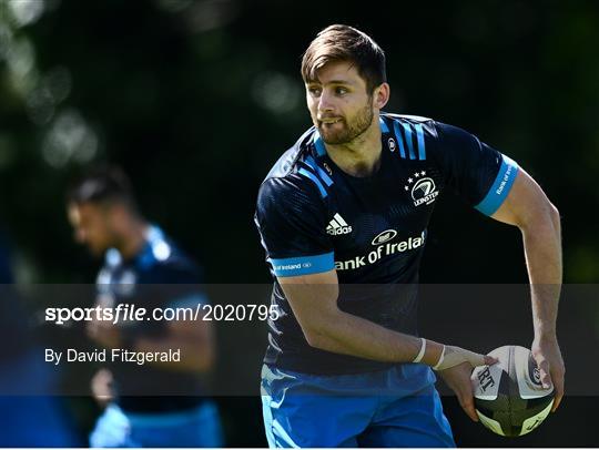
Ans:
{"type": "Polygon", "coordinates": [[[366,177],[374,174],[380,165],[380,126],[375,114],[370,126],[347,144],[326,144],[331,160],[345,173],[366,177]]]}

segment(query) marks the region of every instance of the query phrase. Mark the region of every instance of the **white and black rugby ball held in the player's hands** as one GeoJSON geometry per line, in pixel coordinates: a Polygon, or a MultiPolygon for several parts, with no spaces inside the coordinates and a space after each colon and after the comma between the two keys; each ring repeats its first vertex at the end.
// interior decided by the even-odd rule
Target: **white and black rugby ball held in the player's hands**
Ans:
{"type": "Polygon", "coordinates": [[[504,346],[489,355],[499,362],[477,367],[471,376],[476,413],[497,434],[527,434],[551,411],[554,386],[542,388],[537,364],[525,347],[504,346]]]}

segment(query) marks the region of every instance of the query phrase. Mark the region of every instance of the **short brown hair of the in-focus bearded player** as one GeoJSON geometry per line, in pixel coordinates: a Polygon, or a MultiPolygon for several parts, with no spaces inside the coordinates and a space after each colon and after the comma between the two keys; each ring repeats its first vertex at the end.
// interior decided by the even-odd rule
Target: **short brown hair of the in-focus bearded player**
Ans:
{"type": "Polygon", "coordinates": [[[353,27],[329,25],[316,35],[302,58],[304,82],[317,81],[316,72],[331,61],[354,64],[369,93],[387,81],[385,52],[368,34],[353,27]]]}

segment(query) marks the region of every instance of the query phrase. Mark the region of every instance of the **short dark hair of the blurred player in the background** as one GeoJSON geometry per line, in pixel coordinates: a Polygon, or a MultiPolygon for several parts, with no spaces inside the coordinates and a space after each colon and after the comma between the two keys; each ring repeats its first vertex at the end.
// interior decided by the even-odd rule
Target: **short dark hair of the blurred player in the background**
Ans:
{"type": "Polygon", "coordinates": [[[121,203],[138,212],[131,182],[116,166],[97,166],[79,176],[67,192],[67,203],[121,203]]]}

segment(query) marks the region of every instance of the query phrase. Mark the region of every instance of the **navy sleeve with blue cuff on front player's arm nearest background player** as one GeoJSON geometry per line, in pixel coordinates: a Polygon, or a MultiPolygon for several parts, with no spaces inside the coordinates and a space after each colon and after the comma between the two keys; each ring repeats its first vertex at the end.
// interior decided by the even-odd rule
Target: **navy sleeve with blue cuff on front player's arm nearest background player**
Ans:
{"type": "Polygon", "coordinates": [[[255,223],[277,277],[311,275],[335,267],[323,200],[300,176],[266,180],[258,192],[255,223]]]}

